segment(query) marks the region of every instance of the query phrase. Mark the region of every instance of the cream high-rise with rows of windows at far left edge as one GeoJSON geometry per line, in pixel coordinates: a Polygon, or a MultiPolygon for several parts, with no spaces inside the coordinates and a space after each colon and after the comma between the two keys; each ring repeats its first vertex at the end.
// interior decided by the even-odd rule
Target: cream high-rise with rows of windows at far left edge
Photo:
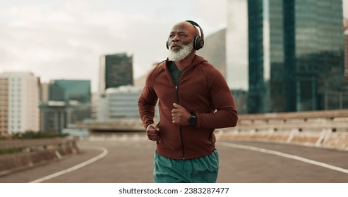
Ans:
{"type": "Polygon", "coordinates": [[[30,72],[0,74],[0,135],[40,130],[39,86],[30,72]]]}

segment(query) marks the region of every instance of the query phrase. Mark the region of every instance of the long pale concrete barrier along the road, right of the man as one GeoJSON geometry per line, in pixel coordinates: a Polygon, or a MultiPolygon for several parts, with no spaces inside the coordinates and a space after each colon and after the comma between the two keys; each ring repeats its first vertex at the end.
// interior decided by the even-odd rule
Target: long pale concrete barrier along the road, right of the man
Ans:
{"type": "Polygon", "coordinates": [[[348,151],[348,110],[239,115],[236,127],[217,129],[219,140],[268,141],[348,151]]]}

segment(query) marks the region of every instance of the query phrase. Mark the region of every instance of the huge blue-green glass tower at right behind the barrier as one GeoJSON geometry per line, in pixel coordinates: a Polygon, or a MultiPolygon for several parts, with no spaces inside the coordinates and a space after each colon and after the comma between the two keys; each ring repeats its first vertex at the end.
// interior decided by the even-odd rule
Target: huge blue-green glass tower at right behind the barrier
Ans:
{"type": "Polygon", "coordinates": [[[344,83],[342,0],[248,0],[248,113],[324,110],[344,83]]]}

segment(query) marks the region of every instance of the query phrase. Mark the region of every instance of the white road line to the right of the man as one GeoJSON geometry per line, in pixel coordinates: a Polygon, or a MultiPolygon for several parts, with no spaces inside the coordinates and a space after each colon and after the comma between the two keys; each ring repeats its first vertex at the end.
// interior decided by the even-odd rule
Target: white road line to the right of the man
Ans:
{"type": "Polygon", "coordinates": [[[290,155],[290,154],[287,154],[287,153],[282,153],[282,152],[278,152],[278,151],[272,151],[272,150],[268,150],[268,149],[265,149],[265,148],[257,148],[257,147],[253,147],[253,146],[245,146],[245,145],[241,145],[241,144],[232,144],[232,143],[227,143],[227,142],[219,142],[217,145],[228,146],[228,147],[231,147],[231,148],[241,148],[241,149],[245,149],[245,150],[249,150],[249,151],[258,151],[258,152],[261,152],[261,153],[268,153],[268,154],[272,154],[272,155],[278,155],[278,156],[281,156],[281,157],[284,157],[284,158],[290,158],[290,159],[293,159],[293,160],[299,160],[299,161],[304,162],[304,163],[309,163],[309,164],[312,164],[312,165],[318,165],[320,167],[325,167],[325,168],[328,168],[330,170],[336,170],[338,172],[343,172],[345,174],[348,174],[348,170],[344,169],[342,167],[329,165],[327,163],[321,163],[321,162],[318,162],[316,160],[310,160],[310,159],[307,159],[307,158],[301,158],[301,157],[296,156],[296,155],[290,155]]]}

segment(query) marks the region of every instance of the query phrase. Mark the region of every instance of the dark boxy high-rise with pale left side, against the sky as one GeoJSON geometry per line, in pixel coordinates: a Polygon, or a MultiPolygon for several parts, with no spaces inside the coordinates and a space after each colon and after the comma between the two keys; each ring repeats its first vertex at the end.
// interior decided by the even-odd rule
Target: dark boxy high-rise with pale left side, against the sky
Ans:
{"type": "Polygon", "coordinates": [[[126,53],[102,56],[98,91],[125,85],[133,85],[133,56],[126,53]]]}

